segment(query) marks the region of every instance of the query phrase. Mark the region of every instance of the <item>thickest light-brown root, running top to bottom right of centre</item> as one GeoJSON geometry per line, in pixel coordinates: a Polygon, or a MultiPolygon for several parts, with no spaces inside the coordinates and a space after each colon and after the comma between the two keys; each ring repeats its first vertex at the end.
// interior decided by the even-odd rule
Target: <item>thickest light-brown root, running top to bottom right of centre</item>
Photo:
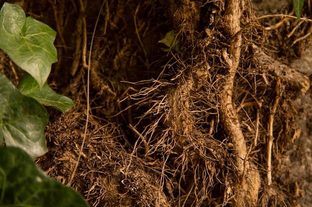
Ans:
{"type": "Polygon", "coordinates": [[[241,35],[236,35],[241,30],[240,3],[240,0],[230,0],[225,8],[226,15],[224,18],[226,26],[224,31],[227,32],[228,36],[234,38],[231,39],[230,46],[227,50],[223,50],[222,53],[228,69],[222,83],[222,91],[220,92],[220,118],[224,130],[234,147],[237,171],[240,177],[247,171],[246,178],[242,177],[241,181],[237,181],[241,185],[238,187],[236,197],[233,201],[234,207],[256,206],[260,188],[259,172],[257,170],[251,171],[251,164],[247,159],[245,138],[240,128],[237,111],[232,102],[234,78],[239,65],[242,46],[241,35]],[[245,179],[247,180],[245,181],[245,179]]]}

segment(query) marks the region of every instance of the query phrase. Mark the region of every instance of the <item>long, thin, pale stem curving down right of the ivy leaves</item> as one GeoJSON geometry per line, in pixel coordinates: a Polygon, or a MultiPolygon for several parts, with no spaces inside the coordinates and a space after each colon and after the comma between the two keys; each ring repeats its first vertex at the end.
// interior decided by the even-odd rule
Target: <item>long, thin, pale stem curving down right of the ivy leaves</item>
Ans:
{"type": "MultiPolygon", "coordinates": [[[[89,109],[90,109],[90,101],[89,101],[90,98],[89,97],[90,97],[90,68],[91,68],[92,46],[93,46],[93,40],[94,40],[94,36],[95,36],[96,27],[98,25],[99,18],[100,18],[100,15],[101,15],[101,12],[102,12],[102,9],[103,9],[105,1],[106,0],[103,0],[101,9],[99,11],[98,17],[97,17],[95,25],[94,25],[94,30],[93,30],[92,38],[91,38],[90,52],[89,52],[89,58],[88,58],[88,77],[87,77],[87,118],[86,118],[85,130],[84,130],[84,135],[83,135],[83,139],[82,139],[82,143],[81,143],[78,159],[77,159],[75,168],[74,168],[74,170],[73,170],[73,172],[71,174],[70,180],[67,183],[68,187],[71,185],[71,183],[72,183],[72,181],[74,179],[74,176],[76,174],[76,171],[77,171],[77,168],[78,168],[78,165],[79,165],[79,161],[80,161],[80,157],[81,157],[81,154],[82,154],[82,150],[83,150],[83,147],[84,147],[84,143],[85,143],[85,140],[86,140],[86,136],[87,136],[88,122],[89,122],[89,109]]],[[[83,5],[82,0],[80,0],[80,3],[81,3],[81,5],[83,5]]],[[[86,32],[86,27],[84,28],[84,30],[86,32]]],[[[87,44],[87,42],[85,42],[85,44],[87,44]]],[[[86,47],[86,45],[84,47],[86,47]]]]}

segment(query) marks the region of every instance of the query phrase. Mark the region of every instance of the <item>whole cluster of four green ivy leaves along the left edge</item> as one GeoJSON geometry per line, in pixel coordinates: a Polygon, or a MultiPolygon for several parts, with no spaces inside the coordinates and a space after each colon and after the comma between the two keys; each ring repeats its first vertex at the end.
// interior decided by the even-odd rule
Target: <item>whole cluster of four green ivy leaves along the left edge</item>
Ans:
{"type": "Polygon", "coordinates": [[[27,73],[15,87],[0,73],[0,206],[89,207],[76,191],[47,177],[33,158],[47,152],[43,105],[65,113],[74,102],[53,91],[46,80],[57,61],[56,32],[4,3],[0,10],[0,49],[27,73]]]}

